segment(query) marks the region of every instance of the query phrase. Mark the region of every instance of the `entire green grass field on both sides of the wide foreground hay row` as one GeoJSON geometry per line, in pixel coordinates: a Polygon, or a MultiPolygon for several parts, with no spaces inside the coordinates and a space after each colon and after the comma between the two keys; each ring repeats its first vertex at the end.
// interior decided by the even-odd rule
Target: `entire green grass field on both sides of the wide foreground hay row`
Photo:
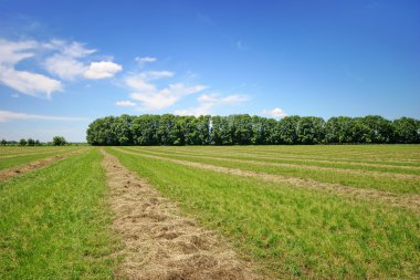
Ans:
{"type": "MultiPolygon", "coordinates": [[[[263,278],[420,278],[419,145],[105,149],[263,278]]],[[[0,167],[70,152],[39,151],[0,148],[0,167]]],[[[1,279],[113,278],[101,160],[92,147],[0,182],[1,279]]]]}

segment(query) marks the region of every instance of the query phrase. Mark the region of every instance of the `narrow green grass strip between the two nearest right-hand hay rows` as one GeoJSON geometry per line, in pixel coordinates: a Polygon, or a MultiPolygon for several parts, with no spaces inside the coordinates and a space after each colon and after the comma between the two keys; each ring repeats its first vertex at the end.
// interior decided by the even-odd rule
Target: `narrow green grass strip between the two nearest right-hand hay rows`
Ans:
{"type": "MultiPolygon", "coordinates": [[[[132,148],[125,148],[132,151],[132,148]]],[[[149,153],[147,149],[137,149],[137,153],[144,153],[147,155],[156,155],[155,153],[149,153]]],[[[136,152],[134,152],[136,153],[136,152]]],[[[266,173],[273,175],[282,175],[287,177],[298,177],[298,178],[311,178],[316,182],[322,183],[336,183],[344,186],[358,187],[358,188],[372,188],[378,190],[386,190],[396,194],[420,194],[420,180],[418,178],[398,178],[391,176],[377,176],[369,174],[345,174],[337,173],[334,170],[316,170],[316,169],[304,169],[297,167],[280,167],[280,166],[269,166],[259,165],[252,163],[240,163],[231,162],[224,158],[206,158],[199,156],[190,155],[179,155],[179,154],[164,154],[160,153],[159,156],[175,159],[182,159],[193,163],[204,163],[212,164],[217,166],[240,168],[243,170],[266,173]]]]}

